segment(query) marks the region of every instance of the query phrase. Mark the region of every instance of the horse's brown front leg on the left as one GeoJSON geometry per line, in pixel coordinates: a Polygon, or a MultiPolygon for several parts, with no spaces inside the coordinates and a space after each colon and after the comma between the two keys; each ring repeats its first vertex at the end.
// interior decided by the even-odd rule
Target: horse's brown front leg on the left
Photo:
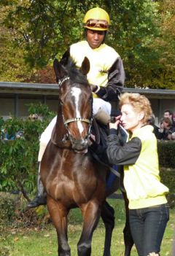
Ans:
{"type": "Polygon", "coordinates": [[[70,256],[71,250],[67,237],[67,210],[47,196],[47,209],[50,212],[58,237],[58,256],[70,256]]]}

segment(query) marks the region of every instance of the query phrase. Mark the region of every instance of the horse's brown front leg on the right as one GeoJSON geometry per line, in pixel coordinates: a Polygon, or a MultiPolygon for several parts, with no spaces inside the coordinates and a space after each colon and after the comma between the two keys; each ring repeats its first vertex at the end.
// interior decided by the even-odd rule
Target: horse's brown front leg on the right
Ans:
{"type": "Polygon", "coordinates": [[[90,201],[80,208],[82,209],[83,228],[78,242],[78,256],[90,256],[93,231],[96,229],[101,211],[95,201],[90,201]]]}

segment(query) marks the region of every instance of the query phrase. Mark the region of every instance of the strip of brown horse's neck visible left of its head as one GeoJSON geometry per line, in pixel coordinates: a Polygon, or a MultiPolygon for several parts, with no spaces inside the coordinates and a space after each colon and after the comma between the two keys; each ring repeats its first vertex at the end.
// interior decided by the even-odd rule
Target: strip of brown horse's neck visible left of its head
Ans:
{"type": "Polygon", "coordinates": [[[52,143],[58,147],[65,147],[65,148],[71,147],[71,142],[68,140],[67,141],[65,140],[66,134],[67,134],[67,130],[63,123],[61,104],[59,104],[57,120],[51,136],[52,143]]]}

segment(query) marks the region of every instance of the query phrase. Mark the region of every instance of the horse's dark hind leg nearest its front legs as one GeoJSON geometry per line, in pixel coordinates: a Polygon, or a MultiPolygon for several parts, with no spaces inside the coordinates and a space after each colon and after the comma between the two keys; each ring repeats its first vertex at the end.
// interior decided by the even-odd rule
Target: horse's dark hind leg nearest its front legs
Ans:
{"type": "Polygon", "coordinates": [[[112,230],[114,229],[114,209],[106,201],[101,209],[101,218],[105,225],[104,256],[110,256],[112,230]]]}

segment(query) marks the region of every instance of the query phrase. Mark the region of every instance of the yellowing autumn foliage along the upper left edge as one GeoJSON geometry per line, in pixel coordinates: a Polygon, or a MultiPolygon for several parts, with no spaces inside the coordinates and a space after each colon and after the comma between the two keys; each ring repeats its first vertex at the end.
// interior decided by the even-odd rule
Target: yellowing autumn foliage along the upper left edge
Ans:
{"type": "Polygon", "coordinates": [[[23,59],[25,50],[18,44],[19,36],[15,28],[4,25],[4,20],[14,6],[3,6],[1,2],[0,7],[0,80],[21,82],[31,75],[28,64],[23,59]]]}

